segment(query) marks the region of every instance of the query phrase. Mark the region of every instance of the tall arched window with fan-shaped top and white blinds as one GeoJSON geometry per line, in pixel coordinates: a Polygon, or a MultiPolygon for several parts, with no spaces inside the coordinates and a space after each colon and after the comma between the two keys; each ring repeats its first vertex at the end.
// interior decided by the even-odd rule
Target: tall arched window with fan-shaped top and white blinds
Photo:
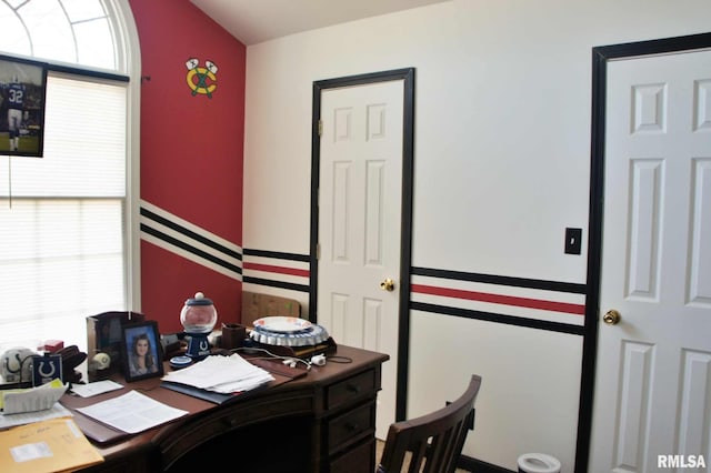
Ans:
{"type": "Polygon", "coordinates": [[[138,304],[128,0],[0,0],[0,54],[48,64],[43,155],[2,155],[0,119],[0,352],[54,339],[86,350],[87,316],[138,304]]]}

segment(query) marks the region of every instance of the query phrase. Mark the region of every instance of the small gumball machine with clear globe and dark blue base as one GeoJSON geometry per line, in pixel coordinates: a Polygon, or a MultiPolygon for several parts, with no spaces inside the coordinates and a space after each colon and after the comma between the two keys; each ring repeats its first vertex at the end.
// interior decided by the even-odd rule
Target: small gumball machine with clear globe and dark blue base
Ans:
{"type": "Polygon", "coordinates": [[[194,361],[204,359],[210,354],[210,341],[208,335],[218,321],[218,311],[212,301],[204,296],[202,292],[196,293],[194,298],[188,299],[180,311],[180,323],[190,336],[188,352],[186,353],[194,361]]]}

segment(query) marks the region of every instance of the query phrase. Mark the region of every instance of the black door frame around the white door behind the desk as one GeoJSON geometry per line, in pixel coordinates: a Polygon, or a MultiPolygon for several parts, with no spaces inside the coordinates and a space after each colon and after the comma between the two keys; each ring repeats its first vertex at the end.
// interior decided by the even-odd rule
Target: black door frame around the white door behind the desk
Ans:
{"type": "Polygon", "coordinates": [[[402,209],[400,236],[400,301],[398,314],[398,366],[395,421],[407,414],[408,356],[410,350],[410,268],[412,262],[412,189],[414,175],[414,68],[371,72],[326,79],[313,82],[311,118],[311,241],[309,244],[309,320],[317,322],[318,313],[318,243],[319,243],[319,180],[321,163],[320,122],[321,93],[327,89],[367,85],[393,80],[403,81],[402,117],[402,209]]]}

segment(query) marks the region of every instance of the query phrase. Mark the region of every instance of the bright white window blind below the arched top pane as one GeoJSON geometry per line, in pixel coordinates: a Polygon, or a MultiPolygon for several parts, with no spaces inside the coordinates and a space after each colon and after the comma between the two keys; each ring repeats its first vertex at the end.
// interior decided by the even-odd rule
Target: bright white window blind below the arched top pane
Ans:
{"type": "Polygon", "coordinates": [[[0,352],[86,350],[86,318],[126,310],[127,97],[50,72],[44,157],[0,159],[0,352]]]}

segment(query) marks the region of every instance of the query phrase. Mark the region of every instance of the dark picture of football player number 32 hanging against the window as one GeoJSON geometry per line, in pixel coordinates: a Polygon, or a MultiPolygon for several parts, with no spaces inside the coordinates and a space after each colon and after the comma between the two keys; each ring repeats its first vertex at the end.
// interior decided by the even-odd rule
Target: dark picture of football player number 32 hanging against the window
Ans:
{"type": "Polygon", "coordinates": [[[43,62],[0,54],[0,155],[42,158],[47,71],[43,62]]]}

